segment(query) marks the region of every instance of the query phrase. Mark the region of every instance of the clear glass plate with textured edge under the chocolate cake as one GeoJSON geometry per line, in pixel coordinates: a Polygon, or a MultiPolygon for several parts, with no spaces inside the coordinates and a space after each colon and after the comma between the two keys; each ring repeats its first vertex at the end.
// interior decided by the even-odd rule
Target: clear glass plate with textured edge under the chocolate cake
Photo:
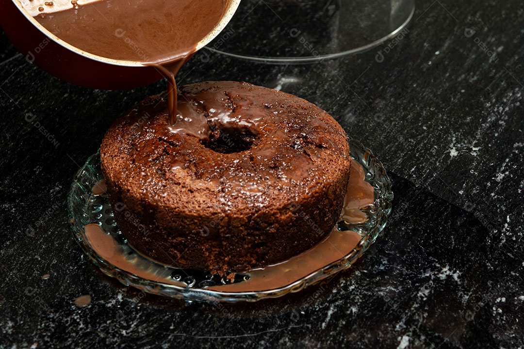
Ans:
{"type": "MultiPolygon", "coordinates": [[[[393,198],[391,182],[383,165],[369,149],[352,138],[349,139],[349,144],[352,159],[362,165],[364,181],[373,190],[374,202],[359,208],[362,213],[358,213],[365,215],[365,221],[352,223],[342,219],[334,227],[331,234],[336,232],[337,239],[342,240],[336,244],[330,243],[329,248],[339,252],[337,247],[344,245],[346,239],[346,245],[350,246],[348,250],[340,258],[335,256],[335,261],[314,267],[314,270],[296,271],[297,274],[294,275],[301,275],[300,272],[306,274],[297,279],[288,280],[278,273],[269,273],[264,276],[263,283],[256,282],[256,275],[260,271],[264,272],[260,268],[237,273],[234,280],[227,280],[207,271],[165,265],[136,251],[119,231],[107,195],[100,190],[97,193],[94,189],[103,179],[100,152],[90,156],[74,177],[68,196],[69,225],[75,239],[91,261],[104,274],[118,279],[126,286],[187,301],[237,302],[280,297],[289,292],[300,291],[351,267],[386,226],[393,198]]],[[[325,241],[327,240],[329,238],[325,241]]],[[[312,250],[315,248],[316,246],[312,250]]],[[[291,260],[306,256],[309,252],[311,250],[291,260]]],[[[315,258],[315,255],[310,254],[310,260],[315,258]]],[[[304,264],[306,263],[297,263],[295,267],[300,269],[304,264]]],[[[271,268],[265,269],[269,271],[271,268]]]]}

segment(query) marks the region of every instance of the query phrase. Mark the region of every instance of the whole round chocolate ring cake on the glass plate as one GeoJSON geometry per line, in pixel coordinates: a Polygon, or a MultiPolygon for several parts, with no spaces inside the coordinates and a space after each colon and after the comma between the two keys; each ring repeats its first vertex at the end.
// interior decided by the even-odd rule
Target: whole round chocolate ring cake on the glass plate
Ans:
{"type": "Polygon", "coordinates": [[[178,100],[172,126],[152,96],[102,142],[115,220],[135,249],[225,275],[285,261],[332,230],[351,157],[330,115],[241,82],[182,86],[178,100]]]}

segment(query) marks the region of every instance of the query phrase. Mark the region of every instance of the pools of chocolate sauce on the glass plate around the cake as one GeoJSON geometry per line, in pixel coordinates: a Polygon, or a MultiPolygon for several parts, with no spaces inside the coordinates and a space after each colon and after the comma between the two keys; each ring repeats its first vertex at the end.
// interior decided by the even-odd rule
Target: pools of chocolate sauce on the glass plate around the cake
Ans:
{"type": "MultiPolygon", "coordinates": [[[[106,187],[103,180],[93,187],[93,195],[106,195],[105,192],[106,187]]],[[[362,165],[353,161],[340,219],[351,224],[365,222],[367,217],[360,209],[372,205],[373,202],[373,186],[364,181],[362,165]]],[[[104,232],[98,224],[88,224],[84,229],[86,237],[96,253],[114,266],[148,280],[186,287],[185,284],[170,278],[169,273],[163,275],[162,272],[159,272],[162,270],[161,268],[157,268],[159,271],[153,270],[154,268],[150,266],[141,268],[128,260],[119,252],[119,245],[115,239],[104,232]]],[[[246,281],[211,286],[206,289],[225,292],[250,292],[285,287],[318,271],[320,268],[341,260],[356,248],[361,239],[361,235],[354,231],[339,231],[335,227],[328,237],[312,249],[285,262],[247,271],[246,274],[250,278],[246,281]]],[[[165,271],[165,269],[163,270],[165,271]]]]}

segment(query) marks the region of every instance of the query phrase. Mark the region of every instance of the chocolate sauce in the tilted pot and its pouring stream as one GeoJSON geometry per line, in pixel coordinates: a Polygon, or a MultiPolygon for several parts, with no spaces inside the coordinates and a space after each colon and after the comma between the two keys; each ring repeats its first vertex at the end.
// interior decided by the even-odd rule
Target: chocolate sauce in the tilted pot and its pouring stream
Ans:
{"type": "MultiPolygon", "coordinates": [[[[198,43],[225,15],[231,0],[103,0],[35,18],[60,40],[100,57],[154,66],[168,77],[171,125],[175,76],[198,43]]],[[[47,10],[47,8],[46,8],[47,10]]]]}

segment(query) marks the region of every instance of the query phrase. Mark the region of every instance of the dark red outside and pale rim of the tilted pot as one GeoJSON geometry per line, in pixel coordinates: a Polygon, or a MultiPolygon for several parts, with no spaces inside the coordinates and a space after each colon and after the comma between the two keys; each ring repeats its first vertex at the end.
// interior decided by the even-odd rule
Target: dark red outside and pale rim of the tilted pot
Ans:
{"type": "MultiPolygon", "coordinates": [[[[227,25],[240,0],[232,0],[222,21],[199,42],[204,47],[227,25]]],[[[126,89],[160,80],[163,73],[140,62],[117,61],[81,51],[61,41],[32,18],[18,0],[0,0],[0,26],[29,62],[73,84],[99,89],[126,89]]]]}

